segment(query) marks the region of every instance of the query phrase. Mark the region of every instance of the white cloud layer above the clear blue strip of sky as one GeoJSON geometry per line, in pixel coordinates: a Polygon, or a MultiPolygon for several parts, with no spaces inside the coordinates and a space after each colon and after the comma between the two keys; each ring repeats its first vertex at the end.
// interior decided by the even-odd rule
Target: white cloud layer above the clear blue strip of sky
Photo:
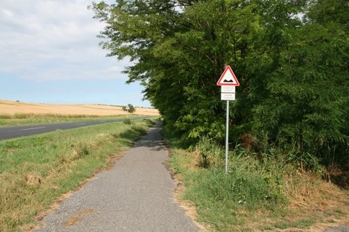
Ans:
{"type": "Polygon", "coordinates": [[[1,0],[0,72],[33,80],[123,79],[106,58],[90,0],[1,0]]]}

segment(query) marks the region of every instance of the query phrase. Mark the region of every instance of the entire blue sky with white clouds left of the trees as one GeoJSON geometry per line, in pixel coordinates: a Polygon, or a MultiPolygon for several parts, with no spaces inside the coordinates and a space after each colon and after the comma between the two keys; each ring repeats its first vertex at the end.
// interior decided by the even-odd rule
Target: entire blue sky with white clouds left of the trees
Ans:
{"type": "Polygon", "coordinates": [[[0,100],[151,107],[98,45],[91,1],[0,0],[0,100]]]}

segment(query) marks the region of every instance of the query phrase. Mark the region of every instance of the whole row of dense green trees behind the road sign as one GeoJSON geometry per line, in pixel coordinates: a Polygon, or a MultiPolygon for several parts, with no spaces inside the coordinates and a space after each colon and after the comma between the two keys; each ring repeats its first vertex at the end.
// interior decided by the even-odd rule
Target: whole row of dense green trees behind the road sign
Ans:
{"type": "Polygon", "coordinates": [[[240,86],[230,142],[276,148],[301,168],[348,170],[348,0],[117,0],[93,3],[101,47],[132,61],[128,83],[165,127],[195,143],[225,137],[216,82],[225,65],[240,86]]]}

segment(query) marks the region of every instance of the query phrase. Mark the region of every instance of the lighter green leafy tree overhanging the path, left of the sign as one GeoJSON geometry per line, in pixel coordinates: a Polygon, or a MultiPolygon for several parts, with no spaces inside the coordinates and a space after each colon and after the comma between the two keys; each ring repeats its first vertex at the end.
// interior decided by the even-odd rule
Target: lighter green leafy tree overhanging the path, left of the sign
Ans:
{"type": "MultiPolygon", "coordinates": [[[[253,38],[261,30],[258,6],[250,1],[152,0],[93,7],[107,23],[103,48],[111,56],[135,61],[125,71],[129,82],[140,80],[146,86],[145,97],[168,127],[186,138],[222,138],[225,102],[216,81],[229,64],[242,79],[241,92],[248,88],[244,83],[258,69],[253,59],[258,59],[253,53],[259,42],[253,38]]],[[[242,111],[249,114],[251,107],[242,111]]],[[[235,124],[248,118],[242,111],[235,124]]]]}

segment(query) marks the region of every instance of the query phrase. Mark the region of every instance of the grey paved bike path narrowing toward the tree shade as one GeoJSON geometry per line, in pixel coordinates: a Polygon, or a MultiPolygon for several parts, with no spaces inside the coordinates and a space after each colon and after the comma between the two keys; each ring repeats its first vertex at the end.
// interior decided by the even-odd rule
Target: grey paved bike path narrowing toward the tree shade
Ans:
{"type": "Polygon", "coordinates": [[[151,127],[112,169],[44,217],[37,231],[199,231],[174,202],[160,130],[151,127]]]}

